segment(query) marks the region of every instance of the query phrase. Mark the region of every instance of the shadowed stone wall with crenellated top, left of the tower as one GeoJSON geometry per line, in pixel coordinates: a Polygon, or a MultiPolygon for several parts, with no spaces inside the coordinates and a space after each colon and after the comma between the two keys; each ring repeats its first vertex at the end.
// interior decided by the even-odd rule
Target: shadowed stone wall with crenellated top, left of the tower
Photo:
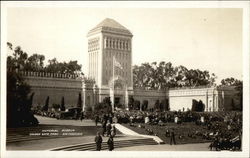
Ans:
{"type": "Polygon", "coordinates": [[[64,97],[65,107],[76,106],[79,93],[82,93],[82,79],[76,75],[54,73],[22,72],[25,82],[34,92],[33,105],[44,106],[49,96],[49,106],[61,104],[64,97]]]}

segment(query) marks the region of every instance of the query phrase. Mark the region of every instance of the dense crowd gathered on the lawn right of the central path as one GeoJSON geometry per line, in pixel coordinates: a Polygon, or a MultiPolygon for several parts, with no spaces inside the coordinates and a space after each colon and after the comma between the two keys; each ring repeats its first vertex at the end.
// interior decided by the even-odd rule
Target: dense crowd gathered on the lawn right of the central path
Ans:
{"type": "MultiPolygon", "coordinates": [[[[241,150],[242,113],[241,112],[145,112],[145,111],[116,111],[114,120],[118,123],[144,128],[147,134],[156,135],[154,130],[145,128],[145,125],[168,126],[168,123],[182,124],[193,122],[197,126],[203,126],[206,132],[195,131],[183,137],[209,140],[210,149],[216,150],[241,150]]],[[[167,129],[167,128],[166,128],[167,129]]],[[[170,144],[175,144],[174,129],[167,129],[165,133],[169,137],[170,144]]]]}

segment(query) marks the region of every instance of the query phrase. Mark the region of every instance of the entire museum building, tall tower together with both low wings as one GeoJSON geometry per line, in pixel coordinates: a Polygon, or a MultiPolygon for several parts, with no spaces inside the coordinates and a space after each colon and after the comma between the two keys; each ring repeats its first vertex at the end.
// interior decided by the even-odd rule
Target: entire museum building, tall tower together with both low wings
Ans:
{"type": "Polygon", "coordinates": [[[88,77],[43,72],[21,72],[35,93],[34,105],[43,106],[50,97],[50,106],[76,106],[80,96],[83,109],[94,107],[105,97],[112,105],[128,107],[129,97],[148,102],[152,108],[157,100],[167,100],[170,110],[191,109],[193,100],[202,101],[205,111],[230,110],[239,104],[234,87],[194,87],[168,90],[133,88],[132,33],[113,19],[104,19],[88,34],[88,77]],[[236,105],[233,105],[236,104],[236,105]]]}

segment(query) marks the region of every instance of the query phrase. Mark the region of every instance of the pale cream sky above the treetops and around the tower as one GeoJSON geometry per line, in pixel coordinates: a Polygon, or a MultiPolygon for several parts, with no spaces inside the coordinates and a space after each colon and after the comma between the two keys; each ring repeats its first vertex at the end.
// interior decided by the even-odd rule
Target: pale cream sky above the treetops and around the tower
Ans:
{"type": "Polygon", "coordinates": [[[29,55],[77,60],[87,74],[87,33],[111,18],[133,34],[132,60],[171,62],[242,80],[242,9],[8,8],[7,41],[29,55]]]}

